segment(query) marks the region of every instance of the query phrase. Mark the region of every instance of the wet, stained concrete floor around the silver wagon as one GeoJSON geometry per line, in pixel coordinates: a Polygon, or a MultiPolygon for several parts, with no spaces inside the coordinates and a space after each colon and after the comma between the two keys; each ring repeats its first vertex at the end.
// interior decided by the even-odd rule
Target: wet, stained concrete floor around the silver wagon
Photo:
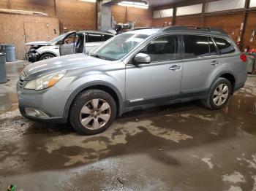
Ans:
{"type": "Polygon", "coordinates": [[[0,190],[256,191],[256,77],[219,111],[200,102],[129,112],[105,133],[31,122],[7,63],[0,85],[0,190]]]}

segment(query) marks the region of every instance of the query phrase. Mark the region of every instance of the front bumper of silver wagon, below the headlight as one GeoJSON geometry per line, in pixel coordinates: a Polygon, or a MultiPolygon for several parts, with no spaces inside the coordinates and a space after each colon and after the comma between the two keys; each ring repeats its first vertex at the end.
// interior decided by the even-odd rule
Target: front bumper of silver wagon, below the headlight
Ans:
{"type": "Polygon", "coordinates": [[[25,90],[17,84],[18,105],[20,114],[30,120],[40,122],[65,123],[64,109],[69,97],[69,92],[61,91],[53,86],[45,90],[25,90]],[[31,114],[29,110],[35,110],[43,115],[31,114]]]}

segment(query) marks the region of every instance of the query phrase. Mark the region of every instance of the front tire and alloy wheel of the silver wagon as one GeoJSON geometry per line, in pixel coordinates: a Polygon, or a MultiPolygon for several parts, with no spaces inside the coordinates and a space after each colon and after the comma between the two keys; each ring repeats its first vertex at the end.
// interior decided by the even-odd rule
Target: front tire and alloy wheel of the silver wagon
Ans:
{"type": "Polygon", "coordinates": [[[102,133],[115,118],[116,102],[102,90],[86,90],[78,94],[69,113],[69,122],[80,135],[102,133]]]}

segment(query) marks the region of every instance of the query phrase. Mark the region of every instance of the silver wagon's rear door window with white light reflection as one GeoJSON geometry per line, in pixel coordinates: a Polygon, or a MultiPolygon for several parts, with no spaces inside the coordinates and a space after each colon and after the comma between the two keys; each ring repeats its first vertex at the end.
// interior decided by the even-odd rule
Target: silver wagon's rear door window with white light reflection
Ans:
{"type": "Polygon", "coordinates": [[[209,54],[207,36],[184,35],[184,58],[197,58],[209,54]]]}

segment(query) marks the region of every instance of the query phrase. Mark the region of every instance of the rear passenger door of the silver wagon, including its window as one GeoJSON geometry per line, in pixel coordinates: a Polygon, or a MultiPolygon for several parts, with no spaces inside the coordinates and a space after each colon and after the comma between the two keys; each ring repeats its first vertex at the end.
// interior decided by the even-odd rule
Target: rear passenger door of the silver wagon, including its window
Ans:
{"type": "Polygon", "coordinates": [[[208,79],[219,67],[219,55],[211,36],[184,34],[183,97],[206,95],[208,79]]]}

